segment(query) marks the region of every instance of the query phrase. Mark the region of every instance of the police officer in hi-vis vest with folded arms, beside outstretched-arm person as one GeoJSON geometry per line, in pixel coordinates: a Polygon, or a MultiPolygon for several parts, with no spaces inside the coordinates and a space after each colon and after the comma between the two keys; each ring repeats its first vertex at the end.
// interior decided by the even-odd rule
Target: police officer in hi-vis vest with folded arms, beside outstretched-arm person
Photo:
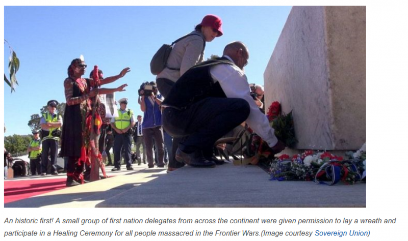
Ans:
{"type": "Polygon", "coordinates": [[[58,155],[58,141],[61,136],[62,117],[56,113],[58,101],[50,100],[47,103],[48,112],[42,114],[40,124],[42,128],[42,156],[41,175],[47,174],[48,153],[50,152],[51,174],[58,175],[56,168],[58,155]]]}

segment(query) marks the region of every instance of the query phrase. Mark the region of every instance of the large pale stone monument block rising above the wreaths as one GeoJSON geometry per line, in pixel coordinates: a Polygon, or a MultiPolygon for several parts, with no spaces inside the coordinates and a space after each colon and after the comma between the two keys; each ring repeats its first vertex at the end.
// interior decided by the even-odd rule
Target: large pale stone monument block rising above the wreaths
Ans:
{"type": "Polygon", "coordinates": [[[293,7],[264,73],[265,105],[293,110],[298,149],[366,142],[366,7],[293,7]]]}

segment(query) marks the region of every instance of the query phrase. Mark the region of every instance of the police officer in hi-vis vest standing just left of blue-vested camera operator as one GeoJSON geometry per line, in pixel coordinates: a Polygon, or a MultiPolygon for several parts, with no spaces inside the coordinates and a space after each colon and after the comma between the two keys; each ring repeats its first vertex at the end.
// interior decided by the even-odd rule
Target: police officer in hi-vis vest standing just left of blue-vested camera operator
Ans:
{"type": "Polygon", "coordinates": [[[111,119],[112,129],[115,131],[115,138],[113,141],[113,162],[114,168],[112,171],[120,170],[121,149],[124,150],[124,161],[126,170],[133,170],[131,159],[132,147],[132,128],[136,122],[133,111],[126,108],[127,98],[119,100],[120,108],[118,109],[119,116],[111,119]]]}

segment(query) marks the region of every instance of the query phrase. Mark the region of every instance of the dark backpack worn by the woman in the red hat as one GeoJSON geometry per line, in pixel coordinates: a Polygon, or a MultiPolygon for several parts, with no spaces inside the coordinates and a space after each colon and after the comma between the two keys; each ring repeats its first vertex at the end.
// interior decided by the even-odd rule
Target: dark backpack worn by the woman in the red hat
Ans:
{"type": "MultiPolygon", "coordinates": [[[[170,68],[167,66],[167,59],[170,56],[170,52],[174,47],[174,44],[179,42],[180,40],[187,38],[188,36],[192,36],[192,35],[198,35],[198,34],[188,34],[186,36],[181,37],[180,39],[177,39],[176,41],[172,42],[171,45],[170,44],[163,44],[162,47],[159,48],[159,50],[157,50],[157,52],[155,53],[155,55],[151,58],[150,61],[150,72],[154,75],[158,75],[160,74],[160,72],[162,72],[164,70],[164,68],[168,68],[170,70],[180,70],[177,68],[170,68]]],[[[200,36],[200,35],[198,35],[200,36]]],[[[206,48],[206,40],[204,40],[204,44],[202,47],[202,52],[204,52],[204,49],[206,48]]]]}

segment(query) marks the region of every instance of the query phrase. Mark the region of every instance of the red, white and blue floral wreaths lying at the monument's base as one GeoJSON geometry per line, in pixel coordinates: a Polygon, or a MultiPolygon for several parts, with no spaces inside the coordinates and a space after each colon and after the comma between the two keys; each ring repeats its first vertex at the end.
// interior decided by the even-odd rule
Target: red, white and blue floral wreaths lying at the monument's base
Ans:
{"type": "Polygon", "coordinates": [[[354,184],[364,178],[365,153],[364,144],[362,149],[356,153],[349,153],[349,155],[353,156],[353,159],[348,160],[329,152],[313,152],[312,150],[307,150],[293,157],[284,154],[271,162],[269,168],[270,180],[315,180],[318,183],[333,181],[331,185],[341,181],[346,184],[354,184]],[[356,157],[360,159],[356,159],[356,157]],[[333,177],[334,169],[339,174],[339,179],[336,182],[330,179],[333,177]],[[319,178],[319,181],[316,178],[319,178]]]}

